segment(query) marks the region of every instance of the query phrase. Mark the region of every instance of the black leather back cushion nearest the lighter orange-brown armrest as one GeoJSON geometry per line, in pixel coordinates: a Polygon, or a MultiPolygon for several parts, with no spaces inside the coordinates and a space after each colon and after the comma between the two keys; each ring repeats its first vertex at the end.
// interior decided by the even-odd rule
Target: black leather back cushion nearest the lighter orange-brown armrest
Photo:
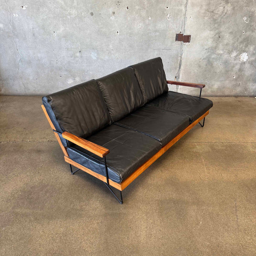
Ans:
{"type": "Polygon", "coordinates": [[[95,80],[52,93],[43,98],[43,103],[45,98],[51,105],[62,131],[85,138],[111,123],[95,80]]]}

